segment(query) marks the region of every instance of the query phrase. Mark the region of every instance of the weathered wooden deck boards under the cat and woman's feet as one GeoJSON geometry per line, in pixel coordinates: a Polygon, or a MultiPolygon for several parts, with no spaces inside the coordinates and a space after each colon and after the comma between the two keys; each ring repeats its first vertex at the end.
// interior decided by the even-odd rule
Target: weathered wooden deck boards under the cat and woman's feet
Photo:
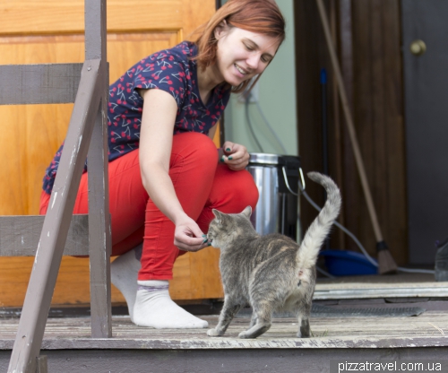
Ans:
{"type": "MultiPolygon", "coordinates": [[[[202,317],[213,326],[216,316],[202,317]]],[[[0,320],[0,350],[10,350],[17,318],[0,320]]],[[[448,313],[427,311],[418,317],[312,317],[314,337],[299,339],[297,321],[275,319],[271,329],[254,340],[237,338],[248,325],[237,318],[219,338],[205,329],[157,330],[134,325],[129,317],[113,317],[113,338],[91,339],[90,318],[49,318],[42,350],[65,349],[290,349],[393,348],[448,346],[448,313]]]]}

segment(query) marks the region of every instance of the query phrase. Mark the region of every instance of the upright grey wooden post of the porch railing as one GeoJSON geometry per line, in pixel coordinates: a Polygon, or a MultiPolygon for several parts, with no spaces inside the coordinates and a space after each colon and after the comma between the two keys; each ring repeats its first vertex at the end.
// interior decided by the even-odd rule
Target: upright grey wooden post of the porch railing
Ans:
{"type": "Polygon", "coordinates": [[[108,63],[106,0],[85,0],[86,59],[98,58],[101,101],[88,154],[91,337],[112,336],[108,196],[108,63]]]}

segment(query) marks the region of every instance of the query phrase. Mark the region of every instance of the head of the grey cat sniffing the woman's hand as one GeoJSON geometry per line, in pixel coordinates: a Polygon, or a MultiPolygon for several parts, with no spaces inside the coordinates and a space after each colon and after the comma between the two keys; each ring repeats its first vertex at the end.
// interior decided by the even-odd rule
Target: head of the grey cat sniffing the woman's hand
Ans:
{"type": "Polygon", "coordinates": [[[224,248],[235,240],[256,235],[251,223],[251,206],[247,206],[241,213],[221,213],[213,209],[215,218],[211,221],[207,238],[213,247],[224,248]]]}

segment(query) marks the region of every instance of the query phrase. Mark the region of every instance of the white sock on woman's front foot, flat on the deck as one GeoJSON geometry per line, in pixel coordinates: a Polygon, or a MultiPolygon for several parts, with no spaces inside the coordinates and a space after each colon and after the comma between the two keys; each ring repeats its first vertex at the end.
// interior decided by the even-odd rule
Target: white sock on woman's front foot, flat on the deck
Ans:
{"type": "Polygon", "coordinates": [[[209,323],[194,317],[171,300],[168,281],[138,282],[134,307],[134,323],[156,329],[189,329],[207,327],[209,323]]]}

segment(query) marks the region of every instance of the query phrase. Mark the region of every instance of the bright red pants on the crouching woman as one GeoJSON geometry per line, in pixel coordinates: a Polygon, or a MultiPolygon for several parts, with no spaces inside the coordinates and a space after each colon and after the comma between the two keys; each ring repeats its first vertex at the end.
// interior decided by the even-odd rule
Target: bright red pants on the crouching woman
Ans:
{"type": "MultiPolygon", "coordinates": [[[[139,151],[129,152],[108,165],[109,209],[112,225],[112,255],[119,256],[143,241],[139,280],[170,280],[177,256],[175,225],[159,211],[142,186],[139,151]]],[[[232,171],[219,164],[218,152],[204,134],[173,136],[169,176],[185,213],[207,233],[214,215],[254,209],[258,190],[246,171],[232,171]]],[[[84,173],[73,213],[88,213],[88,173],[84,173]]],[[[50,195],[42,192],[40,214],[47,213],[50,195]]]]}

